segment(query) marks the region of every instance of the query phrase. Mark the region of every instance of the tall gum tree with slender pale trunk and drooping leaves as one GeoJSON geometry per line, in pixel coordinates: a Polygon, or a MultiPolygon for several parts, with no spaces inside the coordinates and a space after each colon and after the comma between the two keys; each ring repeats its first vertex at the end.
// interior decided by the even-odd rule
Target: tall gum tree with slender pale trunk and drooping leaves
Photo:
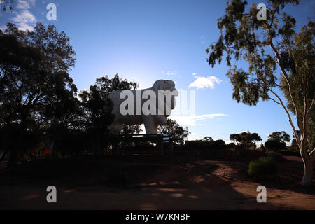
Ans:
{"type": "Polygon", "coordinates": [[[210,45],[209,65],[221,63],[223,54],[230,70],[227,76],[233,85],[233,99],[249,106],[259,99],[279,104],[284,111],[304,162],[302,185],[311,184],[315,149],[307,153],[309,119],[313,113],[314,99],[314,22],[304,26],[299,34],[295,32],[295,18],[283,12],[283,8],[299,0],[267,1],[266,20],[258,20],[257,6],[253,4],[245,13],[246,1],[233,0],[227,3],[225,15],[218,19],[221,36],[210,45]],[[304,57],[305,55],[305,57],[304,57]],[[235,61],[244,59],[248,69],[232,67],[235,61]],[[277,75],[279,68],[280,74],[277,75]],[[287,92],[301,131],[300,137],[283,99],[281,91],[287,92]]]}

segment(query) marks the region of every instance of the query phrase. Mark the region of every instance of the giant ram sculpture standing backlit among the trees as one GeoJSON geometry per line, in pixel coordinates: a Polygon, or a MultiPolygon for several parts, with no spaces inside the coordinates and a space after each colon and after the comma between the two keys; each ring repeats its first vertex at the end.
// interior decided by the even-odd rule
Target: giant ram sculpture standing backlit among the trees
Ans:
{"type": "Polygon", "coordinates": [[[167,123],[167,117],[175,108],[175,96],[178,95],[172,80],[157,80],[151,88],[144,90],[112,92],[109,98],[113,102],[115,118],[111,132],[117,134],[123,124],[144,124],[146,134],[156,133],[158,125],[167,123]]]}

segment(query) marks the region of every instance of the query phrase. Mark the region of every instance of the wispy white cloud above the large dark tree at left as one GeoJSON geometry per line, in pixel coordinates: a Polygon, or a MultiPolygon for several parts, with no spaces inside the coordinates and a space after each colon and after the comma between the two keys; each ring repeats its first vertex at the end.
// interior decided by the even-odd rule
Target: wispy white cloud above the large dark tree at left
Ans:
{"type": "Polygon", "coordinates": [[[34,26],[36,25],[36,18],[29,11],[31,6],[29,5],[29,2],[31,5],[35,5],[35,0],[33,1],[26,1],[26,0],[18,0],[18,5],[16,8],[18,9],[18,13],[15,15],[15,17],[12,18],[13,22],[17,25],[19,29],[22,29],[24,31],[29,30],[33,31],[34,26]]]}

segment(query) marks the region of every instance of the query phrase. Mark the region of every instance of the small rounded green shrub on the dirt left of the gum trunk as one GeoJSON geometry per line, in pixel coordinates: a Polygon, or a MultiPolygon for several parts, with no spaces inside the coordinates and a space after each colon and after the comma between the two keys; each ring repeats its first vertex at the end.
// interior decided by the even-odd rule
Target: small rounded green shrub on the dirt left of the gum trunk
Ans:
{"type": "Polygon", "coordinates": [[[248,174],[255,179],[273,179],[276,176],[274,158],[261,157],[249,162],[248,174]]]}

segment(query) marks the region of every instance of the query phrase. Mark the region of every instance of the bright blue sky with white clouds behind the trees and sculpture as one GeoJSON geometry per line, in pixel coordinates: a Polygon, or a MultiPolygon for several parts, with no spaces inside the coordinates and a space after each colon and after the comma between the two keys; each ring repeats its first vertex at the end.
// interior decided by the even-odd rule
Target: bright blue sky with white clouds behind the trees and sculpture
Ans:
{"type": "MultiPolygon", "coordinates": [[[[246,130],[258,132],[263,141],[274,131],[293,134],[281,106],[272,101],[251,107],[237,104],[225,76],[228,66],[207,64],[205,50],[218,39],[216,20],[224,14],[226,1],[15,0],[14,6],[15,11],[0,13],[1,29],[6,22],[15,22],[20,29],[42,22],[71,38],[77,58],[71,77],[79,90],[88,89],[96,78],[116,73],[136,81],[140,88],[171,79],[178,90],[195,90],[195,115],[173,117],[188,125],[190,139],[209,136],[229,142],[230,134],[246,130]],[[57,6],[55,21],[46,19],[48,3],[57,6]]],[[[314,1],[304,0],[286,12],[295,17],[300,29],[307,17],[314,16],[314,7],[314,1]]]]}

